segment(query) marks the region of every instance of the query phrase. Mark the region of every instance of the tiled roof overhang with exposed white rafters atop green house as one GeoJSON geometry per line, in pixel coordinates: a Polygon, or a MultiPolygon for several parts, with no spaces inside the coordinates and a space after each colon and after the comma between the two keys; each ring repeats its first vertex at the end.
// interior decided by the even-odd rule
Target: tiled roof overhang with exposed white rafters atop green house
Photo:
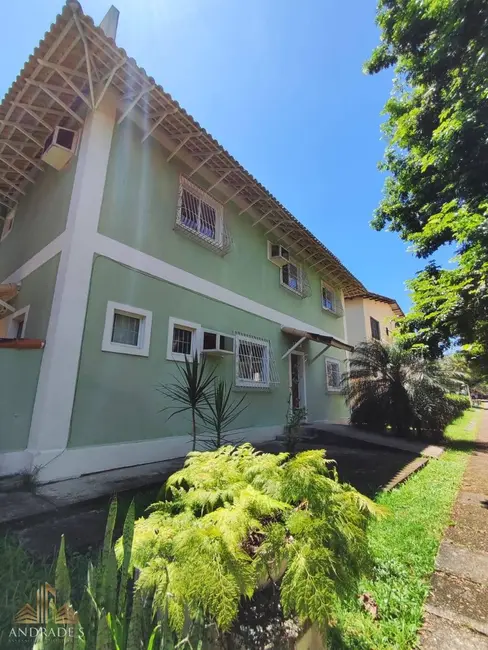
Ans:
{"type": "MultiPolygon", "coordinates": [[[[102,26],[105,27],[104,22],[102,26]]],[[[110,32],[109,32],[110,33],[110,32]]],[[[113,34],[114,32],[112,32],[113,34]]],[[[144,117],[141,140],[154,135],[198,172],[210,193],[233,201],[253,225],[318,274],[333,278],[346,296],[362,283],[246,171],[198,122],[140,68],[113,38],[68,0],[0,105],[0,208],[5,216],[44,170],[40,156],[55,126],[80,128],[110,89],[119,99],[118,123],[144,117]]]]}

